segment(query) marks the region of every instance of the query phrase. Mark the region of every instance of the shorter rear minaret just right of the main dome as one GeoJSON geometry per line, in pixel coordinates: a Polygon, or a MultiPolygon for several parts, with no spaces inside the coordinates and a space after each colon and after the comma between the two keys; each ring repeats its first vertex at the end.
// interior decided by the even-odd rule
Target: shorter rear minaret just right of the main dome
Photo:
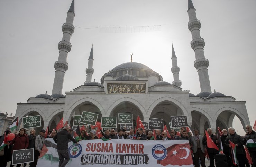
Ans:
{"type": "Polygon", "coordinates": [[[173,82],[172,82],[172,84],[176,85],[178,87],[181,87],[181,81],[179,79],[180,67],[178,67],[178,64],[177,64],[177,57],[175,55],[173,45],[172,45],[172,68],[171,68],[171,70],[172,70],[172,73],[173,73],[173,82]]]}

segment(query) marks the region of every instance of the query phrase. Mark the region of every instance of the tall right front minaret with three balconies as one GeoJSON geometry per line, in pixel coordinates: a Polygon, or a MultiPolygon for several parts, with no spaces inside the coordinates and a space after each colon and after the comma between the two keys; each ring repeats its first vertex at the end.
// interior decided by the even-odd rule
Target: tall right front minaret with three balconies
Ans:
{"type": "Polygon", "coordinates": [[[204,57],[204,39],[200,36],[201,23],[200,20],[196,18],[195,8],[191,0],[188,0],[188,14],[189,23],[188,28],[192,35],[192,41],[190,42],[191,48],[195,52],[194,66],[197,69],[199,82],[201,87],[201,92],[212,92],[211,85],[208,75],[209,61],[204,57]]]}

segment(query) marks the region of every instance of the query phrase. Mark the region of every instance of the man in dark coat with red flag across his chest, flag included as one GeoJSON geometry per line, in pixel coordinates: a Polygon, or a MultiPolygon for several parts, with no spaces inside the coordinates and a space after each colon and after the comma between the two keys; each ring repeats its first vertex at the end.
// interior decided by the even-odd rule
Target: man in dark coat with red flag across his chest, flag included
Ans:
{"type": "Polygon", "coordinates": [[[207,133],[205,132],[205,136],[203,137],[203,144],[206,146],[206,150],[207,150],[207,153],[208,153],[209,158],[210,158],[210,167],[215,167],[214,166],[214,156],[216,154],[219,154],[219,148],[217,146],[218,138],[217,138],[216,135],[212,134],[212,129],[211,128],[207,128],[207,133]],[[207,137],[208,137],[207,135],[210,136],[210,138],[209,138],[210,140],[209,139],[207,140],[207,137]]]}

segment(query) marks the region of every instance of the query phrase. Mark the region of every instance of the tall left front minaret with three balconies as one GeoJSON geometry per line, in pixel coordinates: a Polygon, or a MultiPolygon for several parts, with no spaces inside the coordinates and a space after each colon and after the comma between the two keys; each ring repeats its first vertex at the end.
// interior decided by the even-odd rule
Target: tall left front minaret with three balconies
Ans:
{"type": "Polygon", "coordinates": [[[58,44],[59,49],[59,58],[58,61],[54,63],[55,68],[55,77],[53,82],[53,91],[52,94],[62,93],[64,75],[68,69],[67,55],[71,50],[70,37],[73,34],[75,27],[73,26],[73,21],[75,17],[75,1],[73,0],[70,8],[67,12],[66,23],[62,25],[62,40],[58,44]]]}

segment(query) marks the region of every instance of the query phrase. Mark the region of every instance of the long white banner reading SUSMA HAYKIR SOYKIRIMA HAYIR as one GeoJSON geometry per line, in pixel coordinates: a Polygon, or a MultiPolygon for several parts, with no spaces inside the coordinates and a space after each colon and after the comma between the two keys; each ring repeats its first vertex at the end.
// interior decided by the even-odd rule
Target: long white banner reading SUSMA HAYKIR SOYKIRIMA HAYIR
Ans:
{"type": "MultiPolygon", "coordinates": [[[[37,164],[58,166],[58,152],[53,139],[47,138],[37,164]]],[[[70,161],[66,167],[193,167],[188,140],[82,140],[68,144],[70,161]]]]}

